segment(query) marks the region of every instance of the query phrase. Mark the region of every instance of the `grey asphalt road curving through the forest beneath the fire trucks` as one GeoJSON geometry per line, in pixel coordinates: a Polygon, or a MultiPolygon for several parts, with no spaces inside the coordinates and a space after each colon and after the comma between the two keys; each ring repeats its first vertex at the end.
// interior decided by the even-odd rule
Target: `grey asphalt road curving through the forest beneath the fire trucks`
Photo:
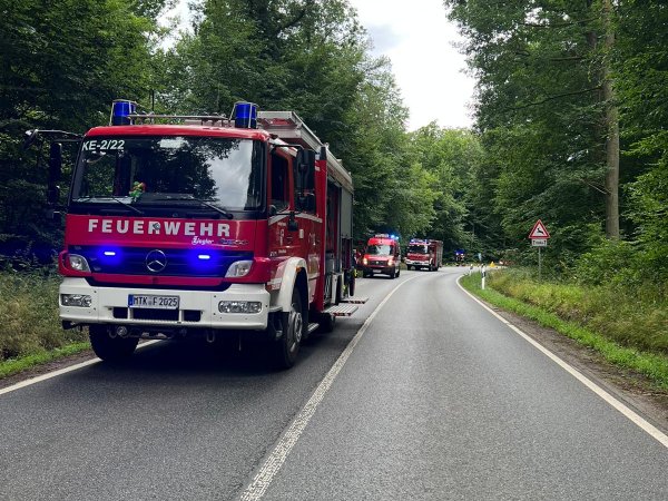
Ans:
{"type": "Polygon", "coordinates": [[[0,394],[0,499],[667,499],[666,445],[460,269],[360,279],[291,371],[157,343],[0,394]]]}

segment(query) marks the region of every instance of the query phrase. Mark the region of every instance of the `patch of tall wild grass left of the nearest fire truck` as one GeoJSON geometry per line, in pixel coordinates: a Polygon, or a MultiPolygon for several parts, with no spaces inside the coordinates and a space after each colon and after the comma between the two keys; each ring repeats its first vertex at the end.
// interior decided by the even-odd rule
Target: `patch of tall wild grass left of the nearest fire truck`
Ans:
{"type": "Polygon", "coordinates": [[[49,268],[0,272],[0,377],[89,347],[58,318],[60,277],[49,268]]]}

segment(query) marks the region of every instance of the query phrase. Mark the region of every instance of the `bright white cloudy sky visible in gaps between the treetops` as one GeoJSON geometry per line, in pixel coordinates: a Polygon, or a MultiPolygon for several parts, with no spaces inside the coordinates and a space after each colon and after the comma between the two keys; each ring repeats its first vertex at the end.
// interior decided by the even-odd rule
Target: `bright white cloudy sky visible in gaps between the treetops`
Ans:
{"type": "MultiPolygon", "coordinates": [[[[435,120],[441,127],[470,127],[474,81],[464,57],[453,43],[461,41],[445,17],[442,0],[348,0],[373,39],[374,53],[392,61],[415,130],[435,120]]],[[[187,1],[173,13],[187,19],[187,1]]]]}

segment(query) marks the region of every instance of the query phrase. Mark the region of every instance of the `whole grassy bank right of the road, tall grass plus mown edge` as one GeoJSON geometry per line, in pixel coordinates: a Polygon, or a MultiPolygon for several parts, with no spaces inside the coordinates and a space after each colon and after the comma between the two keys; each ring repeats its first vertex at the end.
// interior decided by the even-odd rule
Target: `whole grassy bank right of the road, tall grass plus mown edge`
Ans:
{"type": "Polygon", "coordinates": [[[668,326],[659,298],[642,302],[637,294],[537,283],[521,272],[488,273],[488,277],[484,291],[479,273],[464,276],[461,283],[485,302],[554,328],[608,362],[668,389],[668,326]]]}

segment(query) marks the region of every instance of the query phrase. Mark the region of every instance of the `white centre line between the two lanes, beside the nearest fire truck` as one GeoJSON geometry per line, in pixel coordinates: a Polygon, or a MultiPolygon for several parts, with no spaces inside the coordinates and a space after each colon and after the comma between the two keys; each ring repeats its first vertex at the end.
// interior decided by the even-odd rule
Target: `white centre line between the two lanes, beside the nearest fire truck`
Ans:
{"type": "Polygon", "coordinates": [[[330,369],[330,372],[327,372],[327,374],[321,381],[317,389],[315,389],[315,392],[313,392],[313,395],[311,395],[308,402],[306,402],[304,407],[302,407],[297,416],[294,419],[294,421],[291,423],[287,430],[283,433],[283,436],[281,436],[278,443],[274,446],[269,456],[264,461],[259,471],[253,478],[253,482],[250,482],[250,484],[244,490],[240,497],[242,501],[257,501],[262,499],[267,488],[274,480],[274,477],[276,475],[276,473],[278,473],[281,466],[283,466],[283,463],[287,459],[287,455],[294,448],[295,443],[297,443],[299,435],[311,421],[311,418],[313,418],[313,414],[315,414],[315,411],[323,397],[325,396],[325,393],[327,392],[327,390],[330,390],[330,386],[332,386],[332,383],[345,365],[346,361],[353,353],[353,350],[355,348],[355,346],[357,345],[357,343],[360,342],[360,340],[362,338],[362,336],[364,335],[364,333],[366,332],[377,313],[402,285],[404,285],[406,282],[412,281],[413,278],[418,278],[419,276],[421,275],[415,275],[411,278],[406,278],[401,284],[397,284],[396,287],[394,287],[392,292],[387,294],[387,296],[381,302],[381,304],[376,306],[373,313],[369,315],[366,322],[364,322],[362,327],[360,327],[360,331],[357,331],[357,333],[347,344],[343,353],[338,356],[332,369],[330,369]]]}

